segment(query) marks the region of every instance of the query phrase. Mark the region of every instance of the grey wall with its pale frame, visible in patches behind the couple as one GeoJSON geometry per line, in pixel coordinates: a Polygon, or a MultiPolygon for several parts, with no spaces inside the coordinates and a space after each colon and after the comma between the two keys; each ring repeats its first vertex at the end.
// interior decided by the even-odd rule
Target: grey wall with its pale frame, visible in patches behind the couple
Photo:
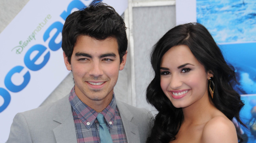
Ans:
{"type": "MultiPolygon", "coordinates": [[[[0,0],[0,32],[11,22],[29,0],[0,0]]],[[[104,1],[103,1],[104,2],[104,1]]],[[[137,106],[154,108],[146,102],[146,88],[153,77],[149,61],[150,49],[170,28],[175,26],[175,0],[128,0],[122,15],[128,27],[128,57],[119,72],[114,89],[117,99],[137,106]]],[[[68,94],[74,86],[70,73],[42,103],[48,104],[68,94]]]]}

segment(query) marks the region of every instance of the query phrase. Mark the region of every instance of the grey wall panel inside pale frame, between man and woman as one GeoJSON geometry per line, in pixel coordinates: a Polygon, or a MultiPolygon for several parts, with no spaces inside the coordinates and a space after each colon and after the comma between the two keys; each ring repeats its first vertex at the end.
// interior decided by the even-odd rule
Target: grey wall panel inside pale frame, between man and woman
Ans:
{"type": "Polygon", "coordinates": [[[145,100],[146,88],[154,76],[150,50],[165,32],[175,26],[175,6],[133,8],[133,23],[136,106],[149,108],[145,100]]]}

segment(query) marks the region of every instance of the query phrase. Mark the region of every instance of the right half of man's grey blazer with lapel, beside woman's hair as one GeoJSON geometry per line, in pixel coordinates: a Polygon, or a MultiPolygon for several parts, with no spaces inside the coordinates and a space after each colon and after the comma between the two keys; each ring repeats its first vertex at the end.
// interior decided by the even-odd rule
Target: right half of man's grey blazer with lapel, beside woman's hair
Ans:
{"type": "Polygon", "coordinates": [[[117,100],[128,143],[145,143],[152,128],[152,114],[144,109],[117,100]]]}

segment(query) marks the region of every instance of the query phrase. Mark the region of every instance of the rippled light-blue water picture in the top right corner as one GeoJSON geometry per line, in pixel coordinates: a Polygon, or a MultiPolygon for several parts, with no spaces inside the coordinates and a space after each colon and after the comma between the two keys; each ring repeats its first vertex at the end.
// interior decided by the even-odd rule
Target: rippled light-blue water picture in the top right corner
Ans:
{"type": "Polygon", "coordinates": [[[197,22],[217,43],[256,41],[256,0],[197,0],[197,22]]]}

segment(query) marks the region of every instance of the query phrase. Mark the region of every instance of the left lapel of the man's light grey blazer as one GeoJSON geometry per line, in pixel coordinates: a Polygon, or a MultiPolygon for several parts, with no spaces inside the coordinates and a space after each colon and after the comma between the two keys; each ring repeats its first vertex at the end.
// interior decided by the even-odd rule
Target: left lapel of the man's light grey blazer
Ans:
{"type": "Polygon", "coordinates": [[[77,143],[75,134],[75,123],[71,110],[71,105],[68,100],[69,96],[63,98],[57,107],[57,114],[53,118],[54,121],[59,122],[53,133],[57,143],[77,143]]]}

